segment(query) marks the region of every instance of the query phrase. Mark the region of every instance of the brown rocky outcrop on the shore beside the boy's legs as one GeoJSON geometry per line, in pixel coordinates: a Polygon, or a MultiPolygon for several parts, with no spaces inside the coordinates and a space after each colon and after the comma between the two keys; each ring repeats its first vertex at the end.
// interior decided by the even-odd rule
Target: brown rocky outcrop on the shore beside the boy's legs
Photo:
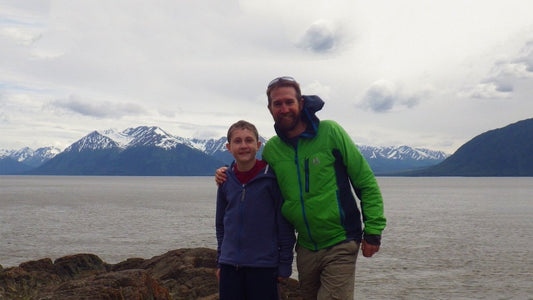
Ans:
{"type": "MultiPolygon", "coordinates": [[[[107,264],[94,254],[0,266],[0,300],[218,299],[216,250],[177,249],[151,259],[107,264]]],[[[301,299],[294,279],[281,284],[282,299],[301,299]]]]}

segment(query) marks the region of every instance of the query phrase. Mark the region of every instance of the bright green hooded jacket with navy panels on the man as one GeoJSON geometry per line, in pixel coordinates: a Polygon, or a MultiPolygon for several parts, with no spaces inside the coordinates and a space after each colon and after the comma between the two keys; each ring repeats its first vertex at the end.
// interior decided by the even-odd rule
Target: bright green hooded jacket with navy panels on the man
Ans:
{"type": "Polygon", "coordinates": [[[293,140],[277,131],[263,149],[285,199],[282,214],[296,228],[298,244],[318,250],[345,240],[360,242],[363,231],[380,237],[386,219],[372,170],[340,125],[314,115],[322,100],[304,99],[307,131],[293,140]],[[360,199],[364,230],[352,186],[360,199]]]}

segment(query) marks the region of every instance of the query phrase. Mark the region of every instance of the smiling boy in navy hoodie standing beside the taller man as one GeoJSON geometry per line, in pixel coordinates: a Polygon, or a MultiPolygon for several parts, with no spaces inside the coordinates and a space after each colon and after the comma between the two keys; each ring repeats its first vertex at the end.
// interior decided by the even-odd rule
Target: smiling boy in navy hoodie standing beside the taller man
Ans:
{"type": "Polygon", "coordinates": [[[217,192],[220,300],[278,299],[278,280],[292,272],[294,228],[281,215],[281,192],[255,126],[230,126],[226,147],[235,161],[217,192]]]}

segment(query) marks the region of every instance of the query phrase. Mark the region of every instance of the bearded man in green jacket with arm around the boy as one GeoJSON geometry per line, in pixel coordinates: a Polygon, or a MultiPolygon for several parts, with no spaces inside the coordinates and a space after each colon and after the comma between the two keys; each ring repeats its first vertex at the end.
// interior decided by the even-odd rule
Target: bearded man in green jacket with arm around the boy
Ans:
{"type": "Polygon", "coordinates": [[[386,225],[377,181],[344,129],[317,118],[324,105],[318,96],[302,96],[288,76],[272,80],[267,96],[277,136],[265,145],[263,159],[276,172],[283,216],[298,232],[303,297],[353,299],[359,246],[365,257],[378,252],[386,225]]]}

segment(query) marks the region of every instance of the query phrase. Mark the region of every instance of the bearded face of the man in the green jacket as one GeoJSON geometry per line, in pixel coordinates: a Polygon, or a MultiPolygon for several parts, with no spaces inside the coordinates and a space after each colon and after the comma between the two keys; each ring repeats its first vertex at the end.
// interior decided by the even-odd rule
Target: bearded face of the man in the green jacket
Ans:
{"type": "Polygon", "coordinates": [[[294,137],[303,130],[305,124],[300,118],[303,100],[296,98],[296,90],[292,87],[280,87],[270,92],[271,102],[268,106],[278,129],[294,137]]]}

